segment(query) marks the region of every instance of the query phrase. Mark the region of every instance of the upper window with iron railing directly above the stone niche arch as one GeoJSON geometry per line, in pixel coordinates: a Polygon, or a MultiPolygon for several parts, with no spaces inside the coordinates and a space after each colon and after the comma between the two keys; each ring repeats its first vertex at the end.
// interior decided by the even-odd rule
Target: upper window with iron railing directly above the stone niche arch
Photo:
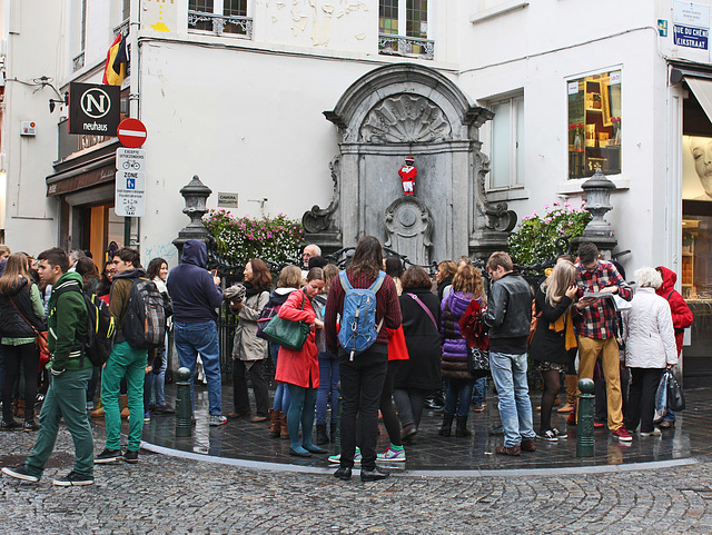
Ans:
{"type": "Polygon", "coordinates": [[[427,0],[379,0],[378,52],[433,59],[427,0]]]}

